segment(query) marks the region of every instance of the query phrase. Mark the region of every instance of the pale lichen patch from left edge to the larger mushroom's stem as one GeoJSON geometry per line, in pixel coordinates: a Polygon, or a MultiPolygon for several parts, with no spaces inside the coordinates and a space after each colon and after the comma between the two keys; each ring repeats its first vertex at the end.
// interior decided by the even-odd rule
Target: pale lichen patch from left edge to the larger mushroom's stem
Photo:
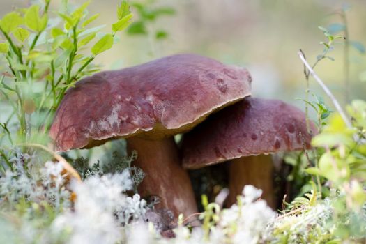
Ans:
{"type": "Polygon", "coordinates": [[[1,243],[117,243],[125,239],[126,225],[144,217],[146,201],[125,194],[133,185],[129,169],[83,182],[64,173],[61,163],[46,162],[38,176],[22,171],[0,176],[0,226],[6,227],[0,228],[1,243]],[[3,212],[5,201],[11,212],[3,212]],[[16,211],[22,201],[29,203],[26,214],[16,211]],[[48,217],[37,215],[42,202],[52,206],[48,217]]]}

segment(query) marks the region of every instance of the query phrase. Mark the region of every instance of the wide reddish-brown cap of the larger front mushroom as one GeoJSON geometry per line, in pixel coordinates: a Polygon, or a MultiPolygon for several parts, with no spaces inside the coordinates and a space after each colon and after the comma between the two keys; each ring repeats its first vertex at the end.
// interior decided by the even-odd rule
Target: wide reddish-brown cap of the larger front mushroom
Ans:
{"type": "Polygon", "coordinates": [[[67,151],[111,138],[175,135],[250,95],[250,82],[246,69],[194,54],[101,72],[68,90],[50,136],[67,151]]]}

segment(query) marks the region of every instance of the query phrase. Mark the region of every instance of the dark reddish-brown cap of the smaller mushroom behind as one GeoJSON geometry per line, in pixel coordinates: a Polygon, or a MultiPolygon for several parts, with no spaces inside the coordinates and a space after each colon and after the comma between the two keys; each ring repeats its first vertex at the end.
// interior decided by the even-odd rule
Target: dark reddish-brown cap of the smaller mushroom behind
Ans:
{"type": "MultiPolygon", "coordinates": [[[[313,131],[314,124],[311,123],[313,131]]],[[[310,148],[305,114],[280,100],[245,98],[213,114],[183,137],[183,167],[243,156],[310,148]]]]}

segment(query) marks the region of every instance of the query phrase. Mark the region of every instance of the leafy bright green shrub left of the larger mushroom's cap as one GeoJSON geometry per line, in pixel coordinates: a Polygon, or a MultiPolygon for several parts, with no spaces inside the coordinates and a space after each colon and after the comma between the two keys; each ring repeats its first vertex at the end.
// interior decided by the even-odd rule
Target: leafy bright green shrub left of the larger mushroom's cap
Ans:
{"type": "Polygon", "coordinates": [[[0,139],[8,144],[45,144],[54,111],[63,95],[78,79],[99,70],[92,61],[114,44],[116,34],[130,25],[130,6],[123,1],[117,21],[108,33],[104,26],[91,26],[98,14],[88,16],[90,1],[71,7],[63,1],[52,16],[50,0],[3,16],[0,52],[2,67],[0,92],[8,108],[1,118],[0,139]],[[15,117],[16,119],[13,119],[15,117]],[[17,135],[17,137],[15,136],[17,135]]]}

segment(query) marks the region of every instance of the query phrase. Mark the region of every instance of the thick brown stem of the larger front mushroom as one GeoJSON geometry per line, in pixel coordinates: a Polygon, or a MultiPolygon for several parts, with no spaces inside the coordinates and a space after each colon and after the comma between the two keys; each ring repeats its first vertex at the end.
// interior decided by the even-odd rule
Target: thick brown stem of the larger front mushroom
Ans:
{"type": "Polygon", "coordinates": [[[178,218],[197,213],[197,204],[187,171],[181,167],[178,148],[173,137],[149,141],[137,137],[127,139],[128,151],[137,151],[134,165],[145,173],[138,191],[142,197],[160,199],[155,208],[168,208],[178,218]]]}

